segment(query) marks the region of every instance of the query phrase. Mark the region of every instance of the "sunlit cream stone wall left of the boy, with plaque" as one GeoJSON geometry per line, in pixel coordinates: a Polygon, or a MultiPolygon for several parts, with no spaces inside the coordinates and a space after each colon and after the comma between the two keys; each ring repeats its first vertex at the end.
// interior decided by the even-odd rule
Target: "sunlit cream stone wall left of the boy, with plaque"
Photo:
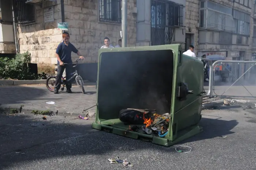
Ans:
{"type": "Polygon", "coordinates": [[[27,50],[31,53],[31,62],[38,64],[55,64],[57,59],[55,52],[61,42],[61,30],[57,29],[57,23],[61,22],[61,5],[53,2],[35,5],[36,23],[18,24],[18,37],[20,53],[27,50]],[[44,9],[54,9],[54,22],[44,22],[44,9]]]}

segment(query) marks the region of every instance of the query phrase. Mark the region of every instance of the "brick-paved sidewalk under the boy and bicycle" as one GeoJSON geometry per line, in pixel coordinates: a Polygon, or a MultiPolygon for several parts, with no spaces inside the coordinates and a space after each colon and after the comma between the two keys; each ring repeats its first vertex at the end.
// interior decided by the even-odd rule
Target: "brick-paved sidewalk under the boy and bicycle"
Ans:
{"type": "MultiPolygon", "coordinates": [[[[59,94],[50,92],[45,85],[34,86],[1,86],[0,107],[19,108],[24,105],[24,112],[31,110],[59,110],[64,114],[82,114],[83,108],[87,109],[96,104],[95,86],[84,86],[87,94],[83,94],[79,87],[72,87],[72,94],[65,91],[59,94]],[[53,101],[55,105],[46,104],[53,101]]],[[[89,111],[95,113],[95,107],[89,111]]]]}

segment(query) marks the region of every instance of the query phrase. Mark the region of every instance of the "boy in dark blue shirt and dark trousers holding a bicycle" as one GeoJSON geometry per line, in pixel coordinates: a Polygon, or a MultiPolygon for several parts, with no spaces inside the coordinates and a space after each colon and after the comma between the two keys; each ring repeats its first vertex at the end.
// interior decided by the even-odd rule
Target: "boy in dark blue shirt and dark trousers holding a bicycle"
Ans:
{"type": "MultiPolygon", "coordinates": [[[[58,94],[61,86],[61,77],[64,72],[64,69],[66,69],[66,79],[71,78],[72,73],[72,58],[71,58],[71,52],[74,52],[78,54],[80,59],[84,59],[82,54],[75,48],[73,44],[69,42],[69,34],[67,32],[64,32],[62,34],[63,42],[61,42],[57,49],[56,49],[56,57],[58,59],[58,71],[56,76],[56,82],[55,82],[55,88],[54,88],[54,94],[58,94]],[[67,64],[64,64],[67,63],[67,64]]],[[[67,92],[71,93],[71,83],[67,82],[66,84],[67,92]]]]}

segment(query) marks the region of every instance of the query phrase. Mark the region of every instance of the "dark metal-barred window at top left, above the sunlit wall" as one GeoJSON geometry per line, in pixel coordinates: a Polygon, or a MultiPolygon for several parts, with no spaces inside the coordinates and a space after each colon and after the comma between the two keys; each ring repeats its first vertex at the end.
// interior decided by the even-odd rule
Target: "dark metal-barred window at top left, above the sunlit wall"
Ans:
{"type": "Polygon", "coordinates": [[[14,0],[15,22],[29,24],[35,22],[34,5],[26,4],[26,0],[14,0]]]}

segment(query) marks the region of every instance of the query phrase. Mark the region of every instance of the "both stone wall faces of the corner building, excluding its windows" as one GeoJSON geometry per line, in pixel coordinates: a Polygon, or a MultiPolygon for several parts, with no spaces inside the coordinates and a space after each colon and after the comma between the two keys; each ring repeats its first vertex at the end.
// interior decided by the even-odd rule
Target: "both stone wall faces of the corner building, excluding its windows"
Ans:
{"type": "MultiPolygon", "coordinates": [[[[128,46],[136,45],[136,17],[133,17],[133,0],[128,0],[128,46]]],[[[103,45],[103,38],[109,37],[116,45],[120,39],[121,23],[99,22],[98,0],[64,0],[65,22],[68,22],[70,42],[78,48],[86,63],[98,60],[98,49],[103,45]]],[[[55,52],[62,41],[62,31],[57,29],[61,22],[60,0],[57,3],[45,2],[35,5],[36,23],[18,25],[20,53],[29,50],[32,63],[56,64],[55,52]],[[54,22],[44,22],[44,9],[54,8],[54,22]]],[[[73,60],[77,57],[72,54],[73,60]]]]}

